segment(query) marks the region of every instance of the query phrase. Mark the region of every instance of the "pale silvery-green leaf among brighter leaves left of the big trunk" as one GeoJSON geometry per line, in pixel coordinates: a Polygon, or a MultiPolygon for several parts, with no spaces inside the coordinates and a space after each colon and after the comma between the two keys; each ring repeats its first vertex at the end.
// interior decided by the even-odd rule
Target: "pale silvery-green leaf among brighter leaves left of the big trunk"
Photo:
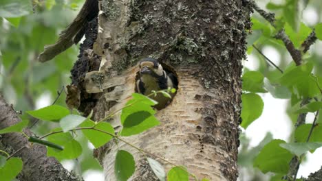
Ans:
{"type": "Polygon", "coordinates": [[[69,114],[66,117],[63,117],[61,121],[59,121],[59,124],[61,125],[61,128],[64,132],[68,132],[69,130],[73,130],[78,125],[83,123],[86,119],[86,117],[69,114]]]}

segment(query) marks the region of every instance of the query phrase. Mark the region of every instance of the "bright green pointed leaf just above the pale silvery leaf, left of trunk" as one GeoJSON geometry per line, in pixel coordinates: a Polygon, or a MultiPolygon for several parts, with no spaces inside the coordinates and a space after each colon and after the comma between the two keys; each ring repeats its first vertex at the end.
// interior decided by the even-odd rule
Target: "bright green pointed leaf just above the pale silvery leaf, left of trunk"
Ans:
{"type": "Polygon", "coordinates": [[[62,119],[69,114],[69,110],[67,108],[58,105],[47,106],[39,110],[28,110],[26,112],[32,117],[54,122],[58,122],[59,119],[62,119]]]}

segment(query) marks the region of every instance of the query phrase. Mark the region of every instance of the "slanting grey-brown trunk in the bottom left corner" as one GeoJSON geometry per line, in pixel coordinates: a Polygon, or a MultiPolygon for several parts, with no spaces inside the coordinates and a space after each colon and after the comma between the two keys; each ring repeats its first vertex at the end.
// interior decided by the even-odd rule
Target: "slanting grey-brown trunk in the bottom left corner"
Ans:
{"type": "MultiPolygon", "coordinates": [[[[21,120],[17,117],[16,112],[14,112],[12,107],[0,95],[0,130],[19,121],[21,120]]],[[[31,135],[32,133],[29,129],[25,129],[25,134],[31,135]]],[[[30,147],[28,139],[22,134],[1,134],[0,138],[1,145],[11,147],[13,149],[12,152],[26,146],[25,149],[21,149],[15,155],[21,157],[23,160],[23,170],[19,173],[19,180],[83,180],[78,178],[74,173],[69,173],[55,158],[47,157],[45,146],[34,144],[30,147]]]]}

